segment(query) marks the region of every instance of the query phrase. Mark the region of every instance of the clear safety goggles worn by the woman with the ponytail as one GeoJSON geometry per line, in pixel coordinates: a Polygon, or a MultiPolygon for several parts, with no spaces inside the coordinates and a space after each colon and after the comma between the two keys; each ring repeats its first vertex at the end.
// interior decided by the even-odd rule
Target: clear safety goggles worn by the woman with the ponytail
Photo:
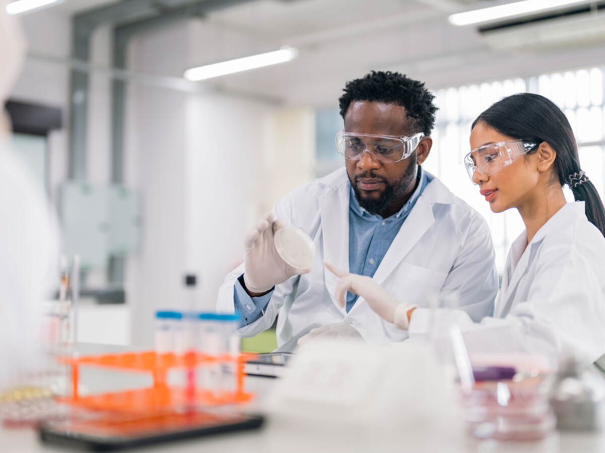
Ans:
{"type": "MultiPolygon", "coordinates": [[[[475,172],[483,176],[495,175],[536,146],[535,143],[516,139],[488,143],[469,152],[464,158],[464,166],[471,181],[475,172]]],[[[473,181],[473,184],[476,183],[473,181]]]]}

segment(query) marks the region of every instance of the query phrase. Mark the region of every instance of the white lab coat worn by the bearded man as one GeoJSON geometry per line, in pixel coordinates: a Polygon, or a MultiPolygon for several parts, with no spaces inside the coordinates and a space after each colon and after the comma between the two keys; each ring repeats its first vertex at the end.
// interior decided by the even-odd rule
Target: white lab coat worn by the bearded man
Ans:
{"type": "MultiPolygon", "coordinates": [[[[335,300],[338,278],[323,260],[348,269],[350,182],[344,167],[293,190],[275,205],[277,217],[302,228],[316,246],[309,274],[275,287],[264,315],[241,327],[243,336],[268,329],[279,318],[280,350],[292,350],[298,338],[315,327],[346,323],[371,344],[402,341],[398,329],[371,310],[359,297],[350,312],[335,300]]],[[[218,310],[234,312],[234,284],[243,265],[232,271],[218,293],[218,310]]],[[[410,211],[374,274],[388,292],[419,306],[441,291],[458,291],[462,309],[479,321],[491,312],[498,280],[489,228],[476,211],[434,178],[410,211]]]]}

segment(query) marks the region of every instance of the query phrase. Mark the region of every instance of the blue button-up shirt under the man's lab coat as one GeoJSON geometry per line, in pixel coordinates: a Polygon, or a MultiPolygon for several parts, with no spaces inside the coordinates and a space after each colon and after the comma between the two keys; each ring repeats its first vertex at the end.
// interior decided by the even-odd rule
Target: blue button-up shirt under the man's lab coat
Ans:
{"type": "MultiPolygon", "coordinates": [[[[370,214],[359,206],[353,187],[350,187],[348,202],[349,272],[373,277],[395,236],[399,233],[399,228],[404,224],[424,188],[433,180],[420,166],[418,167],[418,178],[419,184],[410,199],[397,213],[386,219],[379,214],[370,214]]],[[[241,326],[246,326],[264,314],[273,291],[261,297],[250,297],[243,288],[243,284],[244,276],[242,274],[235,282],[234,304],[235,310],[241,313],[243,318],[241,326]]],[[[358,295],[347,292],[347,312],[352,309],[357,299],[358,295]]]]}

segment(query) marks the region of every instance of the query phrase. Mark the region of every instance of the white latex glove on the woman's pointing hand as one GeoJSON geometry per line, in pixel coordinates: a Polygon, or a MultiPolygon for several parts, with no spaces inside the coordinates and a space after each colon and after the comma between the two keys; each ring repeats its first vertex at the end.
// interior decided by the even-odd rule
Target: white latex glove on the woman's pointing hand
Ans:
{"type": "Polygon", "coordinates": [[[363,297],[370,304],[371,309],[384,320],[394,323],[399,329],[410,328],[408,312],[415,309],[417,305],[399,302],[371,277],[342,271],[328,261],[324,261],[324,264],[330,272],[338,277],[336,301],[341,307],[344,307],[347,291],[352,292],[363,297]]]}

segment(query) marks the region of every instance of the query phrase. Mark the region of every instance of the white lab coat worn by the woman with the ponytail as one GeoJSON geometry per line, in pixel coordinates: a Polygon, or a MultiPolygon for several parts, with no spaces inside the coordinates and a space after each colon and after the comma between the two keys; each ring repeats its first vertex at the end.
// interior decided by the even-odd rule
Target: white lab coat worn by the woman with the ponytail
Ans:
{"type": "Polygon", "coordinates": [[[574,356],[586,367],[605,353],[605,237],[584,202],[563,206],[527,245],[512,243],[494,317],[473,323],[461,310],[417,309],[410,336],[456,321],[473,355],[529,353],[557,367],[574,356]]]}

